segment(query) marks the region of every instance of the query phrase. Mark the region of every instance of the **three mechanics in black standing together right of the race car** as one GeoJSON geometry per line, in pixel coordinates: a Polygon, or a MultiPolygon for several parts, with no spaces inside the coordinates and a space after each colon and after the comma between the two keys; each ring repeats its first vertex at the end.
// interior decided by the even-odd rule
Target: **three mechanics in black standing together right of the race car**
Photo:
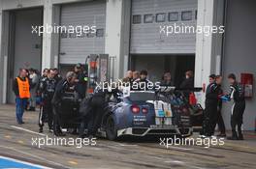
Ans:
{"type": "Polygon", "coordinates": [[[214,135],[215,127],[218,125],[220,133],[217,136],[226,137],[221,108],[223,100],[228,101],[233,99],[234,105],[232,106],[231,113],[232,136],[227,138],[231,140],[243,140],[241,132],[242,115],[245,110],[243,87],[237,81],[234,73],[228,75],[228,81],[230,83],[230,91],[225,95],[221,89],[222,76],[215,74],[209,75],[203,133],[205,136],[214,135]]]}

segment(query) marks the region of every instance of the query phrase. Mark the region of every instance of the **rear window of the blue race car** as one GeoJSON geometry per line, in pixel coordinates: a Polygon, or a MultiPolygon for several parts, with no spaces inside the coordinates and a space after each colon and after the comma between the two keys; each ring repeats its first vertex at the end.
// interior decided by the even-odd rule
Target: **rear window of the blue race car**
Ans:
{"type": "Polygon", "coordinates": [[[129,99],[133,101],[146,101],[146,100],[155,100],[155,93],[154,92],[131,92],[129,99]]]}

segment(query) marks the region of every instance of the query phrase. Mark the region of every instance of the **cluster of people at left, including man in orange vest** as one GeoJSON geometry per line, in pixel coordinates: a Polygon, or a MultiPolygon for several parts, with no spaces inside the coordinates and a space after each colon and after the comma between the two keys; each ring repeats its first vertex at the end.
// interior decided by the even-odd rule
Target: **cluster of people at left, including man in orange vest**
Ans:
{"type": "Polygon", "coordinates": [[[16,95],[16,122],[24,124],[23,113],[26,107],[28,110],[36,109],[36,100],[40,106],[39,132],[48,122],[49,131],[55,135],[62,135],[57,114],[58,103],[65,91],[76,91],[78,97],[83,99],[87,87],[87,75],[80,64],[75,66],[73,71],[62,78],[57,69],[45,69],[42,75],[36,70],[20,69],[14,80],[13,91],[16,95]]]}

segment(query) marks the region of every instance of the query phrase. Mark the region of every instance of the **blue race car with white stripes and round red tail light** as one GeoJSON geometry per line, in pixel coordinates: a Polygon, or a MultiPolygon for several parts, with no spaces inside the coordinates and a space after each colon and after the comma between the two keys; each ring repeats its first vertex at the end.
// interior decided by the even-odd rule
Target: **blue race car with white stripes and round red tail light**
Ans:
{"type": "Polygon", "coordinates": [[[177,92],[131,91],[110,101],[108,109],[101,133],[110,140],[124,135],[192,134],[189,109],[177,92]]]}

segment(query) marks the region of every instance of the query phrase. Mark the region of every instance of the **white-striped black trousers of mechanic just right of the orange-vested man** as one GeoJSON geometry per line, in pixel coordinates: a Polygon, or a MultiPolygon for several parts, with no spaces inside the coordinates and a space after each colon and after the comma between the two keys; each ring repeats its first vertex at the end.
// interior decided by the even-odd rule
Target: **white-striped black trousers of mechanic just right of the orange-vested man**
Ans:
{"type": "Polygon", "coordinates": [[[45,104],[40,107],[39,112],[39,127],[44,127],[46,119],[48,117],[48,128],[52,128],[53,126],[53,111],[52,111],[52,104],[50,99],[45,100],[45,104]]]}

